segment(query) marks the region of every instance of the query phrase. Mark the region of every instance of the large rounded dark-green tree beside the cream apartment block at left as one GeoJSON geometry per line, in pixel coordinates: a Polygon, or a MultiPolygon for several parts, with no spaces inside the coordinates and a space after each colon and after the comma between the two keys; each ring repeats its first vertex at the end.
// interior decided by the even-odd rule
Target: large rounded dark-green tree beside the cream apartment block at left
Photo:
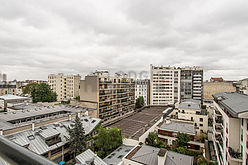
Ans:
{"type": "Polygon", "coordinates": [[[34,103],[37,102],[54,102],[57,100],[57,95],[53,92],[48,84],[41,83],[35,85],[31,92],[34,103]]]}

